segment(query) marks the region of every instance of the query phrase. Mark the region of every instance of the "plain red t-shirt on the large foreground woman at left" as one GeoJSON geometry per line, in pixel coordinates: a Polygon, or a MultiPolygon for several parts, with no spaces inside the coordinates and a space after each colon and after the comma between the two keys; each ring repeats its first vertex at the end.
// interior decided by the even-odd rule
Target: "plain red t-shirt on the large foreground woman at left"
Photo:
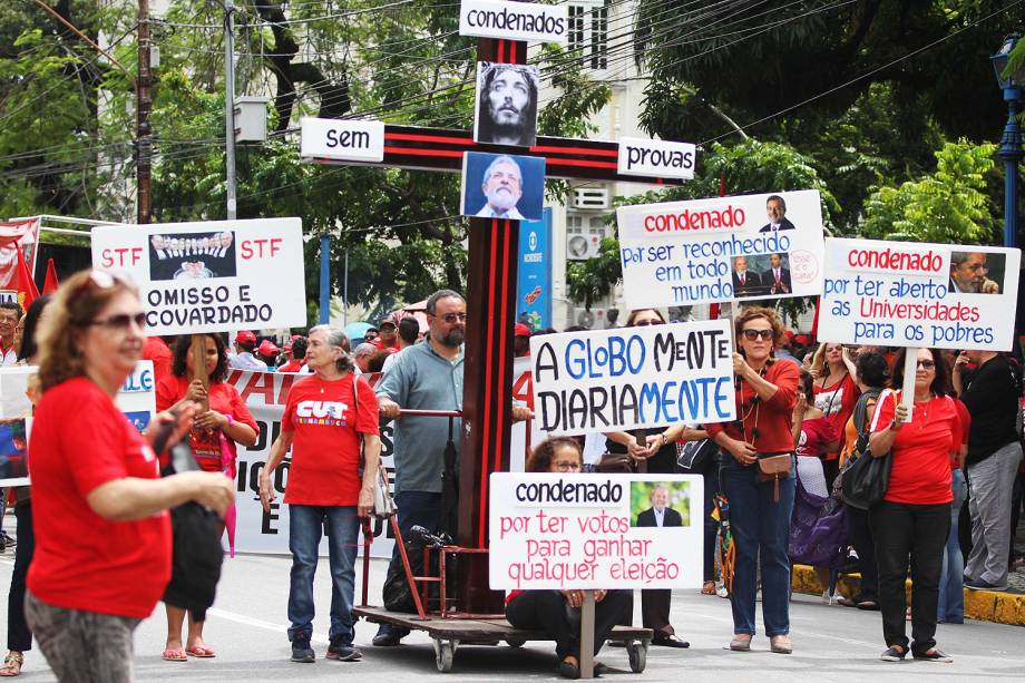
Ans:
{"type": "Polygon", "coordinates": [[[85,378],[43,394],[30,443],[36,553],[29,591],[56,607],[148,617],[170,578],[167,513],[110,521],[86,496],[115,479],[158,478],[153,449],[85,378]]]}

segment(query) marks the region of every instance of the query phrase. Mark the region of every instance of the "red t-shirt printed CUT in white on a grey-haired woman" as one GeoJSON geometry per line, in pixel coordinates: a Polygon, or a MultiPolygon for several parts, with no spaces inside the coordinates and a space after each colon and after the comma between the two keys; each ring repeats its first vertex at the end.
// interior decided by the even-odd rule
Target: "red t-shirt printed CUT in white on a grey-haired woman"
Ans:
{"type": "Polygon", "coordinates": [[[285,503],[354,506],[360,499],[360,433],[378,433],[378,398],[362,378],[359,414],[352,374],[324,381],[312,374],[289,391],[281,430],[294,432],[285,503]]]}

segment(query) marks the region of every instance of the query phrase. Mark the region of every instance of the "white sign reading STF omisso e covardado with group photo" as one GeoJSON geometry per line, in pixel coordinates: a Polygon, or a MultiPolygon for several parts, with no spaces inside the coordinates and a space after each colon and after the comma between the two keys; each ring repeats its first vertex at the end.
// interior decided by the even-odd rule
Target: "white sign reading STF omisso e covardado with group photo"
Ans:
{"type": "Polygon", "coordinates": [[[92,265],[138,285],[149,334],[306,324],[299,218],[100,226],[92,265]]]}

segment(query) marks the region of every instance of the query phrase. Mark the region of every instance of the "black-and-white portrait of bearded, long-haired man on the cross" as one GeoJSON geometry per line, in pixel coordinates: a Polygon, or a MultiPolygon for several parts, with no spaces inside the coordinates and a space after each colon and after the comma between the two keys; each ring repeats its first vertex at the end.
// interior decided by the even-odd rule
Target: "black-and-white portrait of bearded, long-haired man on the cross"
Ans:
{"type": "Polygon", "coordinates": [[[537,142],[537,75],[521,65],[481,62],[480,68],[475,139],[533,147],[537,142]]]}

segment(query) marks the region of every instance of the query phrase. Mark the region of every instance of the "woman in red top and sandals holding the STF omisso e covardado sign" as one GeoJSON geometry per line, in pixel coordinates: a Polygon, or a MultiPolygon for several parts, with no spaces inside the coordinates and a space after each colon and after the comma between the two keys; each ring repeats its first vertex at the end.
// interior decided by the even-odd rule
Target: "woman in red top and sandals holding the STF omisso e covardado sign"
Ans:
{"type": "MultiPolygon", "coordinates": [[[[206,375],[209,389],[204,388],[199,379],[188,380],[194,375],[193,335],[184,334],[175,342],[170,374],[157,382],[157,410],[168,410],[191,401],[207,408],[196,414],[193,428],[188,432],[188,445],[199,468],[208,472],[224,472],[235,480],[236,443],[253,446],[260,428],[245,401],[238,396],[234,384],[227,378],[227,350],[219,334],[201,335],[205,349],[206,375]]],[[[162,466],[166,462],[162,460],[162,466]]],[[[230,536],[231,537],[231,536],[230,536]]],[[[215,656],[214,651],[203,642],[203,621],[188,619],[188,637],[182,646],[182,624],[185,622],[185,608],[179,605],[178,586],[172,576],[167,591],[164,592],[164,605],[167,609],[167,644],[163,657],[168,662],[184,662],[194,657],[215,656]]]]}

